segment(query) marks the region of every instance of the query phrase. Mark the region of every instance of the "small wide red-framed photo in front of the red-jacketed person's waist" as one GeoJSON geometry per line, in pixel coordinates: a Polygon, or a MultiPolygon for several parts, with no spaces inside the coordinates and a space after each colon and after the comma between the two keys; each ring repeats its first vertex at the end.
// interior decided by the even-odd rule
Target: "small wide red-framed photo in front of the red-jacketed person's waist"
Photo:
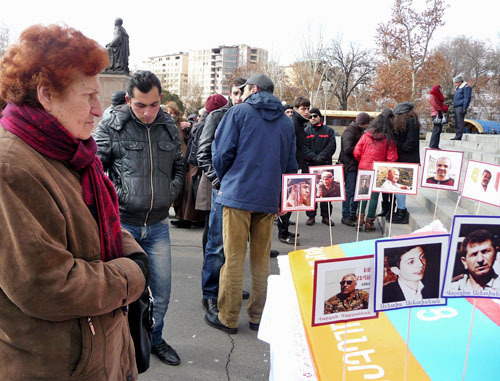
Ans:
{"type": "Polygon", "coordinates": [[[374,192],[417,194],[418,168],[416,163],[374,162],[374,192]]]}

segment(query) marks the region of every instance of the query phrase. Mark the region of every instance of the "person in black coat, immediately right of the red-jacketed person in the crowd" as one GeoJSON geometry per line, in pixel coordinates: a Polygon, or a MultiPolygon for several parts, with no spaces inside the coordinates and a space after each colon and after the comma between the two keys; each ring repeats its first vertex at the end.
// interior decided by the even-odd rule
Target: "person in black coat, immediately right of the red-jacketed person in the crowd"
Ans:
{"type": "MultiPolygon", "coordinates": [[[[394,107],[394,136],[398,148],[398,162],[420,164],[420,122],[413,111],[412,102],[398,103],[394,107]]],[[[395,194],[397,211],[392,216],[392,223],[407,224],[406,195],[395,194]]],[[[390,213],[386,218],[391,218],[390,213]]]]}

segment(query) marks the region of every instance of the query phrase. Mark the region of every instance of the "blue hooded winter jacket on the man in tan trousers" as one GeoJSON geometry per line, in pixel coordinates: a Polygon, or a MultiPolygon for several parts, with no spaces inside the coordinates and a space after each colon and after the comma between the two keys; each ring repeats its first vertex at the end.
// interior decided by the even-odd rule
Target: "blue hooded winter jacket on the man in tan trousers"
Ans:
{"type": "Polygon", "coordinates": [[[295,130],[284,111],[278,98],[260,91],[224,115],[212,143],[218,203],[278,212],[282,175],[297,172],[295,130]]]}

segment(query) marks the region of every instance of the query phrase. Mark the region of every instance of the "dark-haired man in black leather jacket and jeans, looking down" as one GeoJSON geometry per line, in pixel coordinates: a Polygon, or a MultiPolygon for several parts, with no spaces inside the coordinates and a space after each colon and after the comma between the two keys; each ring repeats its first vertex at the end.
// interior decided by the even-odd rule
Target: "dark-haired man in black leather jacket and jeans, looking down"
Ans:
{"type": "Polygon", "coordinates": [[[170,204],[184,178],[177,127],[160,109],[159,79],[137,71],[127,85],[127,104],[103,119],[94,133],[104,170],[116,187],[122,226],[148,254],[155,299],[152,353],[169,365],[180,358],[162,338],[171,289],[170,204]]]}

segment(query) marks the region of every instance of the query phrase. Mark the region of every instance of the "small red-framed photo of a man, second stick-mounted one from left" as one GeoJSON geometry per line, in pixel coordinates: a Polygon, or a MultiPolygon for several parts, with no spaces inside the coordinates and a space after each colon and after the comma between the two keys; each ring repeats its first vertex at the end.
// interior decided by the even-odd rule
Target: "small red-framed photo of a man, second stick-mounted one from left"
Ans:
{"type": "Polygon", "coordinates": [[[316,202],[345,200],[342,164],[309,167],[309,173],[316,175],[316,202]]]}

